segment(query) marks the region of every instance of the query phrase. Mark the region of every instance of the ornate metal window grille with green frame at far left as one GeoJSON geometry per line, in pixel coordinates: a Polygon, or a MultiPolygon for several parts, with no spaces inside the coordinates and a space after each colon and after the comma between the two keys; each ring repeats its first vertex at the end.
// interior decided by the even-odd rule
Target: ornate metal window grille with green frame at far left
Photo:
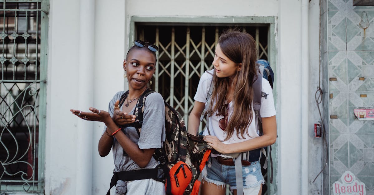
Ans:
{"type": "Polygon", "coordinates": [[[48,7],[0,1],[0,192],[43,191],[48,7]]]}

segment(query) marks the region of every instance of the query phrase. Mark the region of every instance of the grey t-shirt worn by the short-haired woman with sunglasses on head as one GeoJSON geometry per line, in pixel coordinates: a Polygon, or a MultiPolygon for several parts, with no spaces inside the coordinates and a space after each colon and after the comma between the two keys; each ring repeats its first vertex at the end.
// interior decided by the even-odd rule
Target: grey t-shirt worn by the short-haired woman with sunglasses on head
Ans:
{"type": "MultiPolygon", "coordinates": [[[[117,92],[109,102],[108,112],[113,116],[114,103],[119,100],[124,91],[117,92]]],[[[123,106],[121,106],[122,111],[123,106]]],[[[129,114],[134,114],[134,108],[129,114]]],[[[140,149],[161,148],[165,141],[165,104],[159,93],[151,93],[145,99],[143,124],[138,136],[134,127],[126,127],[126,136],[140,149]]],[[[104,126],[104,131],[107,127],[104,126]]],[[[103,132],[104,133],[104,132],[103,132]]],[[[113,140],[114,171],[130,171],[141,169],[129,156],[123,156],[123,148],[114,138],[113,140]]],[[[153,157],[144,168],[154,168],[158,163],[153,157]]]]}

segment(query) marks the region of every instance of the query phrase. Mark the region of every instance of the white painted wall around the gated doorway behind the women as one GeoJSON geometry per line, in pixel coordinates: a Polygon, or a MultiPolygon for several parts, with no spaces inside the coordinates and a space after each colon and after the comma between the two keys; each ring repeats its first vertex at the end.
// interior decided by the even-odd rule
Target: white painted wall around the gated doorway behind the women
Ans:
{"type": "MultiPolygon", "coordinates": [[[[86,125],[93,125],[93,130],[85,130],[87,137],[92,137],[89,142],[92,143],[92,149],[88,151],[92,153],[92,177],[86,178],[92,181],[92,194],[106,193],[113,170],[112,154],[101,158],[97,152],[103,124],[87,121],[80,123],[78,118],[69,112],[70,108],[88,110],[83,103],[79,103],[77,96],[80,90],[77,81],[84,82],[86,79],[82,78],[84,70],[79,69],[81,1],[50,0],[46,194],[76,193],[77,183],[80,182],[77,181],[77,160],[74,159],[80,149],[76,143],[77,132],[85,129],[86,125]]],[[[317,0],[311,1],[309,15],[310,27],[313,27],[309,31],[309,77],[313,78],[309,82],[313,87],[313,92],[309,94],[310,101],[314,100],[315,75],[318,75],[316,66],[319,63],[319,28],[316,24],[319,21],[318,4],[317,0]],[[312,18],[315,18],[315,21],[312,18]]],[[[276,16],[279,174],[274,180],[278,182],[278,194],[300,194],[300,146],[303,141],[300,140],[300,116],[303,115],[300,110],[299,85],[302,33],[300,1],[231,0],[228,3],[224,0],[95,0],[94,7],[94,31],[83,32],[93,34],[93,82],[86,86],[92,89],[93,93],[88,101],[93,102],[92,106],[105,110],[114,93],[125,88],[122,61],[128,48],[130,16],[276,16]]],[[[309,104],[310,108],[315,109],[312,102],[309,104]]],[[[310,124],[314,124],[316,114],[309,114],[312,115],[310,124]]],[[[310,132],[312,130],[310,127],[310,132]]],[[[310,141],[309,147],[313,148],[313,144],[320,143],[318,140],[310,141]]],[[[309,158],[317,158],[318,155],[318,152],[310,153],[309,158]]],[[[313,161],[314,163],[321,164],[321,160],[313,161]]],[[[319,171],[315,168],[309,170],[309,178],[319,171]]],[[[310,185],[311,192],[318,188],[321,188],[319,184],[310,185]]]]}

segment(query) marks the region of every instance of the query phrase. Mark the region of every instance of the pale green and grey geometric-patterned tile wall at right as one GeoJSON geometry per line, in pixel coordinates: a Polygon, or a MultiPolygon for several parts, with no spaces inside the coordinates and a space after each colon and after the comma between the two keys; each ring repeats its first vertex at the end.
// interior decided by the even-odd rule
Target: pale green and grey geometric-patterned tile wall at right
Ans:
{"type": "Polygon", "coordinates": [[[350,170],[365,183],[366,194],[374,195],[374,121],[353,114],[355,108],[374,107],[374,6],[353,6],[352,0],[327,0],[327,6],[327,31],[321,24],[328,45],[325,70],[336,78],[328,81],[328,115],[337,116],[329,119],[329,182],[350,170]]]}

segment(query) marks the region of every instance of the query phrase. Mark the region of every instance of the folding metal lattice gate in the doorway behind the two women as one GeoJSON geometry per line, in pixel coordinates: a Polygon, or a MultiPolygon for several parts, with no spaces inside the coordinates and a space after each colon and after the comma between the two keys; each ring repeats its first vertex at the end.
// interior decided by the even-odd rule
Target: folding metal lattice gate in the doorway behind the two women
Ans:
{"type": "MultiPolygon", "coordinates": [[[[204,71],[212,69],[214,50],[218,37],[227,26],[209,25],[136,25],[135,39],[148,41],[159,46],[156,72],[153,77],[154,90],[161,93],[166,102],[184,117],[193,108],[193,97],[204,71]]],[[[269,26],[235,27],[251,34],[257,43],[258,58],[268,59],[269,26]]],[[[205,119],[199,131],[205,127],[205,119]]],[[[263,170],[267,180],[266,170],[263,170]]],[[[227,194],[231,194],[227,191],[227,194]]],[[[267,185],[263,186],[267,194],[267,185]]]]}

